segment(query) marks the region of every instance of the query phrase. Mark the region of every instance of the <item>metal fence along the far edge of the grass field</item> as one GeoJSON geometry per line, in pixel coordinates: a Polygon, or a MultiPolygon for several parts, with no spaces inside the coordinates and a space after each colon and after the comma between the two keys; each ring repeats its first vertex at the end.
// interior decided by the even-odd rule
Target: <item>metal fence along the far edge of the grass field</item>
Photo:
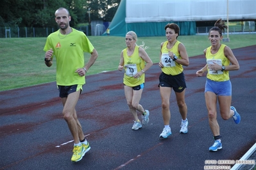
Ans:
{"type": "MultiPolygon", "coordinates": [[[[211,27],[196,27],[197,34],[209,33],[211,27]]],[[[53,27],[0,27],[0,38],[47,37],[58,28],[53,27]]],[[[88,35],[88,28],[76,28],[88,35]]],[[[255,33],[255,26],[230,26],[229,33],[255,33]]],[[[94,34],[92,34],[94,35],[94,34]]],[[[99,34],[100,35],[100,34],[99,34]]]]}

